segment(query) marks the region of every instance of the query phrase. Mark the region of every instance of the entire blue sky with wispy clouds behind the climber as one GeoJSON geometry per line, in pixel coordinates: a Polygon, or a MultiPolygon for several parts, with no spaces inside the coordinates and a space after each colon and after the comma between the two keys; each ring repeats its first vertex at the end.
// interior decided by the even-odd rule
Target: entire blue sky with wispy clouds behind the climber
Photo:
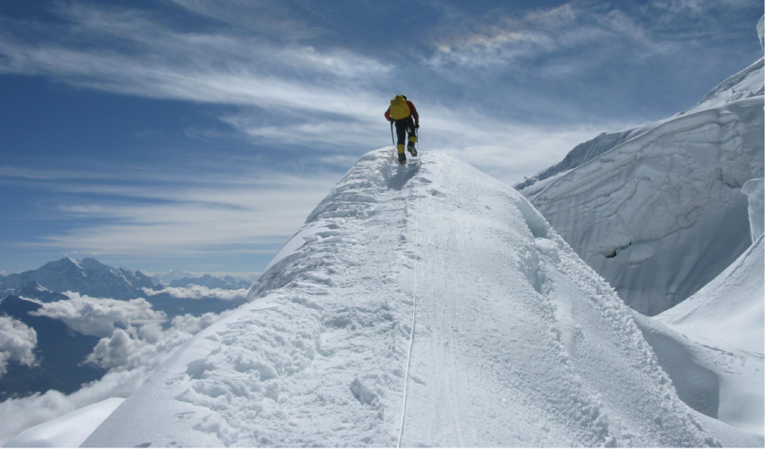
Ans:
{"type": "MultiPolygon", "coordinates": [[[[755,0],[3,0],[0,270],[257,273],[409,96],[508,183],[762,56],[755,0]]],[[[480,199],[477,199],[480,201],[480,199]]]]}

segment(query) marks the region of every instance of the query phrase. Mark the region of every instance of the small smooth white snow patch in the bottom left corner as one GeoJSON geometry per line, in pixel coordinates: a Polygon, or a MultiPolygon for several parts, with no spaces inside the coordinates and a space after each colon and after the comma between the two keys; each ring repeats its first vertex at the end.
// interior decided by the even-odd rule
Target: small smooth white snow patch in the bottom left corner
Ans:
{"type": "MultiPolygon", "coordinates": [[[[4,449],[77,449],[86,438],[122,404],[111,398],[28,428],[8,441],[4,449]]],[[[114,444],[112,443],[113,447],[114,444]]]]}

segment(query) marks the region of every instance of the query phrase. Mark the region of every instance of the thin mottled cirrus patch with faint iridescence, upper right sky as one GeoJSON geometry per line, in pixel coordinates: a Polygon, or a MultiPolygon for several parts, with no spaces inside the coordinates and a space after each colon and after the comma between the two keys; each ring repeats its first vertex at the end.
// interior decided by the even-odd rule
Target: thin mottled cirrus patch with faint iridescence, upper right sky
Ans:
{"type": "Polygon", "coordinates": [[[520,71],[538,66],[536,73],[545,76],[568,75],[574,66],[591,70],[620,60],[619,52],[639,60],[656,55],[682,57],[690,48],[737,34],[718,15],[753,6],[751,0],[654,0],[640,5],[574,0],[522,14],[493,11],[461,20],[435,40],[435,52],[427,61],[436,69],[520,71]],[[587,56],[592,50],[601,56],[587,56]],[[569,62],[566,53],[577,54],[580,63],[569,62]],[[561,64],[568,68],[556,68],[561,64]]]}

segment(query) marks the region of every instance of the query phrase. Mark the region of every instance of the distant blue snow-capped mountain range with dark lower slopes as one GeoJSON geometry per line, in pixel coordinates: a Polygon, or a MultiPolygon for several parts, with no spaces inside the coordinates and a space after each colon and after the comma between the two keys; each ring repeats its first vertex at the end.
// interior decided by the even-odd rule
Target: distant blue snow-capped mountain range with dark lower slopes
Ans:
{"type": "MultiPolygon", "coordinates": [[[[204,286],[209,289],[239,290],[251,283],[232,276],[219,278],[211,275],[194,277],[191,273],[171,270],[160,279],[179,274],[171,286],[204,286]]],[[[45,316],[30,315],[44,302],[67,301],[63,292],[76,292],[92,298],[129,300],[145,298],[155,311],[165,312],[171,319],[177,315],[200,316],[208,312],[220,314],[246,302],[246,295],[196,292],[184,297],[177,292],[164,292],[161,283],[153,282],[145,273],[127,268],[114,268],[93,258],[74,260],[65,257],[46,263],[37,270],[0,276],[0,316],[7,315],[23,322],[37,332],[34,348],[34,366],[15,361],[8,363],[8,372],[0,376],[0,402],[23,397],[35,392],[56,389],[71,393],[83,383],[100,379],[106,370],[83,363],[99,338],[80,334],[63,321],[45,316]],[[154,290],[154,292],[147,291],[154,290]]]]}

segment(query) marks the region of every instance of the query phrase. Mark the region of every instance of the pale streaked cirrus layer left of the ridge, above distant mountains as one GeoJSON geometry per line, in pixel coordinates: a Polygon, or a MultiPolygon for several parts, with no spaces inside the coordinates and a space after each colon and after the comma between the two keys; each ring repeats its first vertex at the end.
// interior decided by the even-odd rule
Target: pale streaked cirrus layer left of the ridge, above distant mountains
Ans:
{"type": "Polygon", "coordinates": [[[269,254],[337,182],[334,173],[245,172],[196,180],[189,175],[170,183],[162,173],[144,173],[139,183],[128,183],[130,170],[96,181],[66,170],[22,173],[22,180],[34,179],[37,189],[68,194],[66,202],[54,206],[57,217],[82,223],[24,245],[86,254],[228,252],[223,247],[269,254]]]}

